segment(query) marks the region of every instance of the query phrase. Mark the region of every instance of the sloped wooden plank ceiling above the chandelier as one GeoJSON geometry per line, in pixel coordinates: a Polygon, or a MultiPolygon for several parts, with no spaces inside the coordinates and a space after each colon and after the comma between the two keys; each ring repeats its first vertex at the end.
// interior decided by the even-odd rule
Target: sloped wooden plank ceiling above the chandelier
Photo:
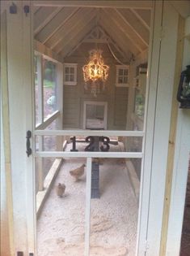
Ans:
{"type": "Polygon", "coordinates": [[[108,43],[125,59],[147,50],[150,36],[149,1],[35,1],[34,37],[65,58],[82,42],[108,43]],[[76,4],[77,2],[77,4],[76,4]],[[93,2],[101,3],[93,4],[93,2]],[[115,4],[113,4],[115,2],[115,4]],[[137,2],[137,5],[135,4],[137,2]],[[140,2],[140,4],[139,4],[140,2]],[[70,4],[68,4],[70,3],[70,4]],[[81,4],[81,5],[80,5],[81,4]],[[118,6],[116,6],[116,4],[118,6]]]}

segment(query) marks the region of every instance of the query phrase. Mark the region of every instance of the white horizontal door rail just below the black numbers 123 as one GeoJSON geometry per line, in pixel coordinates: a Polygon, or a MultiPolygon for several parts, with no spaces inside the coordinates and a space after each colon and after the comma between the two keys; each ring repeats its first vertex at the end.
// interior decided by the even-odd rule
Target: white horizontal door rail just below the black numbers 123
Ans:
{"type": "Polygon", "coordinates": [[[40,158],[142,158],[142,152],[36,151],[40,158]]]}

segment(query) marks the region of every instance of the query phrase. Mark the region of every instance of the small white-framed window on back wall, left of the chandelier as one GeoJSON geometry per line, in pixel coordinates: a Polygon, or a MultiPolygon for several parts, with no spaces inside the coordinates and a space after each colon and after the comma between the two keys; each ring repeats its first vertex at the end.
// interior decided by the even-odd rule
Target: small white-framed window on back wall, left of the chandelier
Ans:
{"type": "Polygon", "coordinates": [[[64,84],[77,85],[77,64],[75,63],[64,64],[64,84]]]}

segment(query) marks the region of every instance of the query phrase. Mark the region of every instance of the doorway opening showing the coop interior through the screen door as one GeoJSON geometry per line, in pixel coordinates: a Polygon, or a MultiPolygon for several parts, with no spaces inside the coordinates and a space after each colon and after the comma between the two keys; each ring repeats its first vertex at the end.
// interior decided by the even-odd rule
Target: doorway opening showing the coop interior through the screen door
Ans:
{"type": "Polygon", "coordinates": [[[34,9],[38,256],[137,253],[150,21],[135,4],[34,9]],[[109,66],[96,98],[95,47],[109,66]]]}

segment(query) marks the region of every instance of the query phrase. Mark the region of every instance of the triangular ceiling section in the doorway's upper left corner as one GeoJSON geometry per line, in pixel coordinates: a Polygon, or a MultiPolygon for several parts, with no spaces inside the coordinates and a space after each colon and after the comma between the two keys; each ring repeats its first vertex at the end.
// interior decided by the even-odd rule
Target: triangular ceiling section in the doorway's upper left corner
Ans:
{"type": "Polygon", "coordinates": [[[61,7],[40,8],[40,10],[36,12],[34,18],[34,34],[36,35],[36,33],[39,33],[60,10],[61,7]]]}

